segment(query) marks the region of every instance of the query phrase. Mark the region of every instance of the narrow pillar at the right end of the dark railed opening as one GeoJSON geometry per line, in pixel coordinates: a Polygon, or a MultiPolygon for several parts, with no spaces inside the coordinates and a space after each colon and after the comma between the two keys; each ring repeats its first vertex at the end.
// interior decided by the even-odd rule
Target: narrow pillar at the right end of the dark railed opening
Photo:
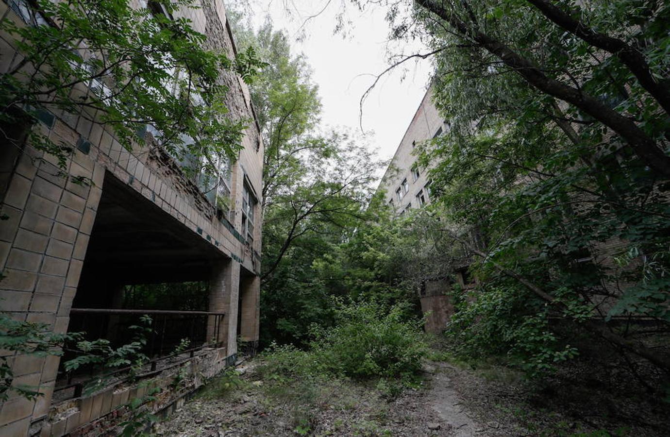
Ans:
{"type": "MultiPolygon", "coordinates": [[[[216,342],[224,342],[226,356],[237,353],[237,300],[239,298],[240,265],[237,261],[226,259],[215,265],[210,279],[209,310],[224,312],[218,326],[216,342]]],[[[210,316],[207,325],[207,338],[216,334],[214,316],[210,316]]]]}

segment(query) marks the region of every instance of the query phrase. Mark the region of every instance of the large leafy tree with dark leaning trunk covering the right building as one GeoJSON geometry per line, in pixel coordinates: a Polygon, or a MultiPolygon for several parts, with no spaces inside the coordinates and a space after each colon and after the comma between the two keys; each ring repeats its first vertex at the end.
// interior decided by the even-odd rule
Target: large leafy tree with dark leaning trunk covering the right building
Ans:
{"type": "Polygon", "coordinates": [[[438,53],[435,103],[452,125],[430,158],[440,163],[433,190],[483,279],[479,302],[456,318],[458,338],[545,371],[574,355],[571,337],[549,323],[563,318],[576,322],[573,332],[586,328],[670,369],[632,325],[610,323],[647,316],[667,329],[670,321],[669,125],[658,78],[667,70],[659,56],[667,7],[586,3],[575,27],[565,20],[577,15],[549,2],[417,4],[438,53]],[[645,64],[631,62],[630,47],[645,64]],[[481,230],[484,246],[456,225],[481,230]]]}

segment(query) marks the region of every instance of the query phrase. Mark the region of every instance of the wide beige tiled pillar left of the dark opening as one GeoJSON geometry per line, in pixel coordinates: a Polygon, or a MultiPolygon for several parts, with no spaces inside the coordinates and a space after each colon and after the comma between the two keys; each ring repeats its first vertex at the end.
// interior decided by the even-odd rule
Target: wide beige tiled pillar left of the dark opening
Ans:
{"type": "MultiPolygon", "coordinates": [[[[58,135],[54,135],[58,142],[58,135]]],[[[105,169],[75,152],[66,173],[53,158],[26,147],[9,179],[0,213],[2,310],[16,320],[38,322],[50,332],[66,332],[93,227],[105,169]],[[92,183],[76,184],[71,176],[92,183]]],[[[19,355],[12,359],[13,384],[44,395],[36,401],[13,397],[0,409],[0,435],[25,435],[31,421],[48,413],[60,358],[19,355]]]]}

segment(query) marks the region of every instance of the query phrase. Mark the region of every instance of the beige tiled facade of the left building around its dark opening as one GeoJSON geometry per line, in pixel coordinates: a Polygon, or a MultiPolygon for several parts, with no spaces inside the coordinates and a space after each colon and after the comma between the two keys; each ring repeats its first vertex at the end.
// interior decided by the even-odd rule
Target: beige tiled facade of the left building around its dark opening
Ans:
{"type": "MultiPolygon", "coordinates": [[[[235,47],[222,0],[201,3],[201,9],[188,9],[182,15],[207,34],[211,48],[223,48],[232,56],[235,47]]],[[[17,20],[3,2],[0,16],[17,20]]],[[[14,43],[6,35],[0,37],[1,73],[7,71],[13,59],[14,43]]],[[[247,86],[232,74],[223,74],[222,80],[230,87],[226,105],[232,117],[253,120],[247,86]]],[[[106,190],[105,181],[113,178],[137,195],[138,204],[150,205],[156,214],[175,223],[178,233],[198,239],[194,247],[212,259],[211,276],[202,278],[212,284],[210,310],[226,312],[226,330],[221,335],[227,344],[216,356],[235,355],[240,271],[257,277],[260,268],[260,210],[253,243],[240,235],[239,213],[245,181],[257,195],[261,192],[263,145],[260,143],[258,147],[257,125],[251,123],[245,131],[244,149],[232,166],[229,220],[217,218],[216,207],[160,150],[135,145],[129,151],[121,146],[111,129],[77,115],[56,114],[52,121],[38,123],[34,129],[75,149],[78,143],[88,141],[90,150],[76,150],[66,162],[63,176],[53,157],[26,145],[12,160],[11,172],[5,172],[8,188],[0,208],[8,219],[0,223],[0,269],[7,277],[0,282],[1,309],[17,320],[44,323],[52,332],[68,330],[70,308],[78,292],[100,198],[106,190]],[[92,183],[77,184],[73,178],[78,176],[90,178],[92,183]]],[[[243,307],[255,308],[245,309],[243,314],[243,332],[248,340],[258,338],[259,290],[257,279],[245,285],[243,307]]],[[[38,434],[42,426],[54,436],[66,432],[60,425],[55,428],[49,425],[55,424],[57,418],[51,399],[59,357],[9,356],[9,361],[15,372],[15,384],[39,387],[44,395],[36,401],[13,395],[0,405],[0,435],[38,434]]],[[[81,420],[77,426],[80,424],[81,420]]]]}

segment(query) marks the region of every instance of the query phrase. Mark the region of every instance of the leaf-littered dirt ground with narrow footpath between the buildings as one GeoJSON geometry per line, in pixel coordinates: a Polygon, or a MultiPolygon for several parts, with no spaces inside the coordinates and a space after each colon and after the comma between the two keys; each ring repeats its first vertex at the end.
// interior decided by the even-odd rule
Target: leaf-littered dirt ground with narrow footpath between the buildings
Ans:
{"type": "Polygon", "coordinates": [[[429,362],[423,387],[399,395],[383,381],[263,376],[255,368],[260,362],[210,381],[156,434],[670,436],[670,407],[641,392],[627,373],[612,372],[602,357],[537,382],[507,367],[429,362]]]}

